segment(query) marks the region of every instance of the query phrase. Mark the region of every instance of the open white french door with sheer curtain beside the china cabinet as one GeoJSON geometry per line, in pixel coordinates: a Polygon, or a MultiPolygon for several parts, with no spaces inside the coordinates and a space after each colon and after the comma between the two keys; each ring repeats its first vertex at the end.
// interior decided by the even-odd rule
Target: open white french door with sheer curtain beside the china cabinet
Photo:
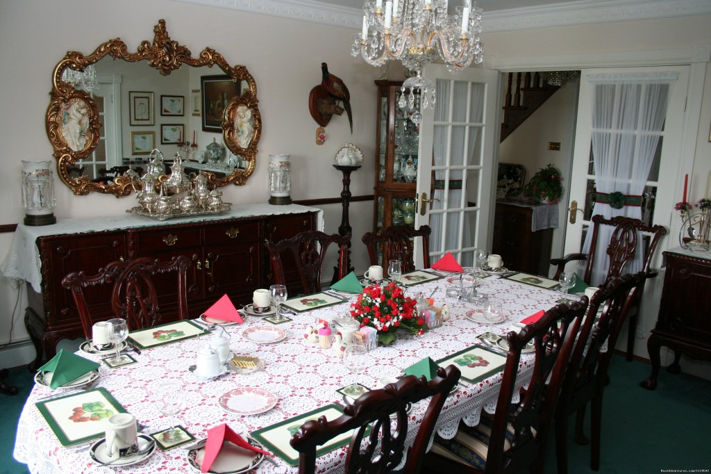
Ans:
{"type": "MultiPolygon", "coordinates": [[[[422,111],[419,128],[415,227],[432,228],[433,260],[449,251],[461,265],[474,266],[475,250],[490,247],[493,227],[499,73],[469,68],[452,74],[428,65],[424,77],[435,84],[437,102],[422,111]]],[[[415,264],[422,268],[422,255],[415,254],[415,264]]]]}

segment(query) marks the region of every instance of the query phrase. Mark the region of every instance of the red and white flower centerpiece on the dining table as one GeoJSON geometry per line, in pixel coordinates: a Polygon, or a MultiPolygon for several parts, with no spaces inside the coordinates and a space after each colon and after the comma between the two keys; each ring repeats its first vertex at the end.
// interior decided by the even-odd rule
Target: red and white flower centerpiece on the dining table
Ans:
{"type": "Polygon", "coordinates": [[[360,327],[375,327],[378,342],[387,345],[397,339],[398,329],[416,335],[423,335],[427,330],[427,324],[415,310],[416,303],[395,283],[382,288],[373,285],[363,288],[363,293],[358,295],[358,300],[351,305],[351,316],[360,322],[360,327]]]}

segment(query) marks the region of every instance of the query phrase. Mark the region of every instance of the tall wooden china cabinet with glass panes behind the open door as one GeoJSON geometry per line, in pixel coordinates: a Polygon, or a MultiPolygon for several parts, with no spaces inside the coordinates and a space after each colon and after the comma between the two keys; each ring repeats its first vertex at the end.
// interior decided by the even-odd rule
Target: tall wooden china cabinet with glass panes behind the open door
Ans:
{"type": "Polygon", "coordinates": [[[415,223],[419,130],[397,100],[401,82],[376,80],[378,129],[373,230],[415,223]]]}

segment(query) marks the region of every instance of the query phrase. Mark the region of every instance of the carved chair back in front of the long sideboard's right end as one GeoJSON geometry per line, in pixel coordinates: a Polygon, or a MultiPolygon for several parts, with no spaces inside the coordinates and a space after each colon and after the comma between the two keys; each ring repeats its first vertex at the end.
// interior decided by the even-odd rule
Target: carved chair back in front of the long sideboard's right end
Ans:
{"type": "Polygon", "coordinates": [[[300,232],[277,243],[265,241],[264,246],[267,247],[269,258],[272,260],[274,283],[286,284],[282,253],[287,253],[293,257],[296,263],[303,294],[318,293],[321,291],[321,271],[323,270],[328,246],[331,243],[338,245],[338,279],[340,280],[348,273],[346,258],[348,257],[348,243],[350,242],[351,233],[339,236],[337,233],[329,235],[321,231],[300,232]]]}

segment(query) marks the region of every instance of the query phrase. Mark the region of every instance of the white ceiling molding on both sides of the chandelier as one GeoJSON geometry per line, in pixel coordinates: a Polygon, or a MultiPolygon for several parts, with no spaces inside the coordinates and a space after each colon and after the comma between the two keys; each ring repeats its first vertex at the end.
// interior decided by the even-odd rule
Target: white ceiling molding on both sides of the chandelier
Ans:
{"type": "MultiPolygon", "coordinates": [[[[363,9],[314,0],[172,0],[360,30],[363,9]]],[[[578,0],[483,12],[483,33],[710,14],[709,0],[578,0]]]]}

